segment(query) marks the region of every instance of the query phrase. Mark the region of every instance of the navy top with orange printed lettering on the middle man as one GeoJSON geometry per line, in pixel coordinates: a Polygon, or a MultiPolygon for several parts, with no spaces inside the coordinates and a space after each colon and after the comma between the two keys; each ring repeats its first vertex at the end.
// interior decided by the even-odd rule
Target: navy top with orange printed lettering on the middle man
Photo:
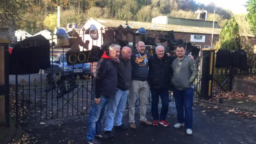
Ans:
{"type": "Polygon", "coordinates": [[[151,55],[145,52],[140,54],[137,51],[132,51],[132,80],[148,80],[148,61],[151,55]]]}

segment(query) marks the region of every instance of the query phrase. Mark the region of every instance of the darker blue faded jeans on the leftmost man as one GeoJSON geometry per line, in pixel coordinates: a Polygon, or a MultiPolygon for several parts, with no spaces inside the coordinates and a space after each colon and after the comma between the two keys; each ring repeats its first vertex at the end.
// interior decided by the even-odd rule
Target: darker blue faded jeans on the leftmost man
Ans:
{"type": "Polygon", "coordinates": [[[86,136],[87,140],[93,140],[97,133],[101,132],[101,126],[103,120],[106,117],[108,110],[109,97],[101,96],[100,103],[96,105],[94,103],[95,94],[92,93],[92,106],[90,115],[88,118],[88,133],[86,136]]]}

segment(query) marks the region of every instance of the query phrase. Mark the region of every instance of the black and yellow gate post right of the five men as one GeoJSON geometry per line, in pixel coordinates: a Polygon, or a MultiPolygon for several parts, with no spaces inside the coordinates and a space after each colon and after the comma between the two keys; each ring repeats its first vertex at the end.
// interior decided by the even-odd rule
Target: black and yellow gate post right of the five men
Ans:
{"type": "Polygon", "coordinates": [[[203,48],[202,83],[200,97],[203,100],[212,98],[215,48],[203,48]]]}

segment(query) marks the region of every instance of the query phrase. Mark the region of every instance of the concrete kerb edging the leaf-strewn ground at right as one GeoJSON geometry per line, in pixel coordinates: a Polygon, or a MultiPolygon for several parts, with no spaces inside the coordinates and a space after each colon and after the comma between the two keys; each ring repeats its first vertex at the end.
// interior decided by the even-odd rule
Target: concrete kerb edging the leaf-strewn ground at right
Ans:
{"type": "Polygon", "coordinates": [[[209,106],[218,106],[220,108],[234,108],[236,110],[238,110],[238,112],[250,112],[251,114],[255,113],[256,110],[255,109],[251,109],[251,108],[243,108],[243,107],[236,107],[236,106],[230,106],[228,104],[220,104],[220,103],[214,103],[214,102],[210,102],[210,101],[206,101],[206,100],[194,100],[195,103],[202,103],[205,105],[209,105],[209,106]]]}

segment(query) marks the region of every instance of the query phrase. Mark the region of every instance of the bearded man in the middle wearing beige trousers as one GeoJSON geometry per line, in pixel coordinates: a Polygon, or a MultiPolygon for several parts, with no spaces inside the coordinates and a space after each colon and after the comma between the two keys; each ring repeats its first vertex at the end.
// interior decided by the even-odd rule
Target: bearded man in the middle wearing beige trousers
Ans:
{"type": "Polygon", "coordinates": [[[130,101],[129,101],[129,122],[130,128],[136,129],[135,125],[135,105],[137,94],[140,96],[140,123],[145,125],[152,125],[146,118],[148,106],[148,61],[150,54],[145,52],[144,42],[138,42],[137,50],[132,51],[132,84],[130,87],[130,101]]]}

